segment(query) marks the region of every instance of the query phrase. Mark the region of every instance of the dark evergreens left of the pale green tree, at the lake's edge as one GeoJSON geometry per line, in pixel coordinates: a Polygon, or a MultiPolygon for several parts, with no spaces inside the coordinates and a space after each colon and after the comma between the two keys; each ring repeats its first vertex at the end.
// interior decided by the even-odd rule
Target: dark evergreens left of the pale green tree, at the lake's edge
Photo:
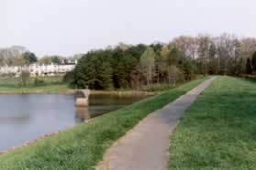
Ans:
{"type": "MultiPolygon", "coordinates": [[[[92,50],[79,59],[73,70],[72,85],[90,89],[129,88],[134,86],[133,70],[139,65],[139,58],[147,47],[117,46],[92,50]]],[[[141,76],[141,75],[139,75],[141,76]]]]}

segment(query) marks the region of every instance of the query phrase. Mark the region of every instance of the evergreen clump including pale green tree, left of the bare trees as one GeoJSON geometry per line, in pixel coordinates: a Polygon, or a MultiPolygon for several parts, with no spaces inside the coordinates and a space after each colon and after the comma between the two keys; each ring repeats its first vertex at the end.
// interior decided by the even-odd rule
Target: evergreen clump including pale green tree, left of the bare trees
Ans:
{"type": "Polygon", "coordinates": [[[184,58],[173,45],[120,44],[92,50],[66,75],[77,88],[139,89],[152,83],[176,83],[195,77],[195,62],[184,58]]]}

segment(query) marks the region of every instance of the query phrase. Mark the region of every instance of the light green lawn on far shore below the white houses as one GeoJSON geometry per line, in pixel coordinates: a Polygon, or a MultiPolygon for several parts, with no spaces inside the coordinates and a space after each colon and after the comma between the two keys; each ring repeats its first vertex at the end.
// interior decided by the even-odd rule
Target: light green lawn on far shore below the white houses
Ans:
{"type": "Polygon", "coordinates": [[[35,85],[35,78],[28,80],[26,87],[20,86],[18,78],[1,78],[0,94],[5,93],[67,93],[72,92],[68,84],[62,82],[62,77],[39,77],[42,83],[35,85]]]}

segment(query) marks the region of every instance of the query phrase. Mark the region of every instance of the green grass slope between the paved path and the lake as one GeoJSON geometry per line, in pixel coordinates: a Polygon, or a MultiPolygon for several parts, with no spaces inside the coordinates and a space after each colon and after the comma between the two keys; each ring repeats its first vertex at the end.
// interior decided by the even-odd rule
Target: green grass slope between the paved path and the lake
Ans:
{"type": "Polygon", "coordinates": [[[204,79],[78,125],[0,156],[0,169],[94,169],[106,149],[150,112],[174,101],[204,79]]]}

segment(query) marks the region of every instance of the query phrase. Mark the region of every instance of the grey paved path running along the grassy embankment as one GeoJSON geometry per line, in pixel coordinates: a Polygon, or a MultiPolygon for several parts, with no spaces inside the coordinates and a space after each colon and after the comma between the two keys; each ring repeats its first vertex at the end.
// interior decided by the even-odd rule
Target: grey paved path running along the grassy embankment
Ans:
{"type": "Polygon", "coordinates": [[[204,81],[139,122],[107,150],[97,170],[166,170],[170,133],[184,111],[196,97],[211,84],[214,78],[204,81]]]}

